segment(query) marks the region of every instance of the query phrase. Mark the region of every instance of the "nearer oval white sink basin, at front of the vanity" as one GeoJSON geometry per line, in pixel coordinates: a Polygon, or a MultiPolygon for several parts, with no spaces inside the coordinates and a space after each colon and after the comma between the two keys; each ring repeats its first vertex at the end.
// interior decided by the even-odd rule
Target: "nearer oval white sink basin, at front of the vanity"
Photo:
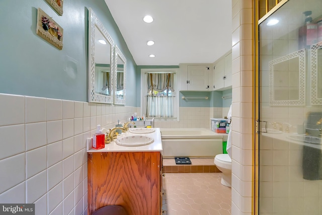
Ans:
{"type": "Polygon", "coordinates": [[[120,146],[145,146],[153,142],[153,138],[143,135],[130,135],[115,140],[115,143],[120,146]]]}

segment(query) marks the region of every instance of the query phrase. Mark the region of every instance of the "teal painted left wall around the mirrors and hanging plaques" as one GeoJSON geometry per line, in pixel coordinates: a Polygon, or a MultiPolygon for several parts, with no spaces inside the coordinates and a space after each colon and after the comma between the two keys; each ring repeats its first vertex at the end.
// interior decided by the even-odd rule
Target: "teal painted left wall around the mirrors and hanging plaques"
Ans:
{"type": "Polygon", "coordinates": [[[0,93],[88,101],[88,8],[92,8],[126,57],[126,105],[136,106],[137,86],[130,81],[136,78],[136,64],[104,0],[68,0],[63,6],[59,16],[44,0],[0,1],[0,93]],[[36,34],[37,8],[63,28],[62,50],[36,34]]]}

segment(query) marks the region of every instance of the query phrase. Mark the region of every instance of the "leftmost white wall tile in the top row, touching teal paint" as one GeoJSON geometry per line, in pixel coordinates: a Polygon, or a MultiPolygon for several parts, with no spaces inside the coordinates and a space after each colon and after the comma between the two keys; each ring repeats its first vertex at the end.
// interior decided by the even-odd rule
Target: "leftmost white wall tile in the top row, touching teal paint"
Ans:
{"type": "Polygon", "coordinates": [[[0,126],[25,123],[25,96],[0,93],[0,126]]]}

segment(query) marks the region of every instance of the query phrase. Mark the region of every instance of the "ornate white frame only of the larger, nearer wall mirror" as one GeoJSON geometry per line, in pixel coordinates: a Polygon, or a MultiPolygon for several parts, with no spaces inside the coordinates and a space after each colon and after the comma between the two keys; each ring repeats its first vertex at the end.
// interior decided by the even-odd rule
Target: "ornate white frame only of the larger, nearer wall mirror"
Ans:
{"type": "Polygon", "coordinates": [[[95,90],[95,27],[97,27],[111,45],[110,69],[111,77],[114,77],[114,41],[97,18],[91,8],[89,8],[89,102],[113,103],[113,81],[111,81],[111,94],[102,95],[95,90]]]}

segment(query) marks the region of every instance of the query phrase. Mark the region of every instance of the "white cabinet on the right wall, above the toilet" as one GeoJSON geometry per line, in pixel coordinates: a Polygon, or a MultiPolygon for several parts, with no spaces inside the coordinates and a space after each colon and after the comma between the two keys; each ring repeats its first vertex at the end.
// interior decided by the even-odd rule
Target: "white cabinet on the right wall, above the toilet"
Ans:
{"type": "Polygon", "coordinates": [[[231,88],[232,82],[231,52],[214,63],[212,90],[225,90],[231,88]]]}

